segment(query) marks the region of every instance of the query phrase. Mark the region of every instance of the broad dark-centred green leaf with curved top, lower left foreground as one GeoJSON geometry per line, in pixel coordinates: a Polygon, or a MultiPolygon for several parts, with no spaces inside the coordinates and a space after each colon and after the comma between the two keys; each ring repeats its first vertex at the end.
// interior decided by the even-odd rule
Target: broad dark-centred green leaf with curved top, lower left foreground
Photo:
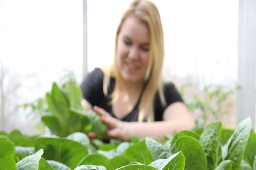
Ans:
{"type": "Polygon", "coordinates": [[[46,160],[62,162],[71,169],[88,155],[87,148],[82,144],[59,137],[40,137],[35,141],[35,149],[44,149],[43,157],[46,160]]]}

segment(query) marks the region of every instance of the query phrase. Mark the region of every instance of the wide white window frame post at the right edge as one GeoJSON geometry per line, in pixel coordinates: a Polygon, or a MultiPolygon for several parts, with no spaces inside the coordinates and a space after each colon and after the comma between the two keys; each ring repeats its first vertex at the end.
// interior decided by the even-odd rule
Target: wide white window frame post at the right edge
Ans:
{"type": "Polygon", "coordinates": [[[237,123],[250,117],[255,129],[256,1],[239,0],[237,123]]]}

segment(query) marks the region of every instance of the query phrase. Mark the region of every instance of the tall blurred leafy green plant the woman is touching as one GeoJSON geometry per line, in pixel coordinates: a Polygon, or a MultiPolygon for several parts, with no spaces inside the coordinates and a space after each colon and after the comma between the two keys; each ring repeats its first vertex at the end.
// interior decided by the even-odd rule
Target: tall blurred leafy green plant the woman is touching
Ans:
{"type": "Polygon", "coordinates": [[[80,102],[74,103],[81,99],[80,89],[74,83],[67,83],[64,87],[61,90],[53,83],[51,94],[46,93],[50,113],[42,116],[42,121],[52,133],[61,137],[74,132],[88,133],[92,124],[82,111],[80,102]]]}

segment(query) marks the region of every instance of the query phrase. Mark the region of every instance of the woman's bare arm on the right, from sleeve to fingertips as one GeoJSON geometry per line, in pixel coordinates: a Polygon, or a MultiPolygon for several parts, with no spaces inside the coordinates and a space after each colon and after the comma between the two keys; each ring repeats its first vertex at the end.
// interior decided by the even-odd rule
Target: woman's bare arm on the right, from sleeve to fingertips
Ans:
{"type": "Polygon", "coordinates": [[[129,141],[132,137],[156,137],[163,140],[164,135],[174,134],[181,130],[191,130],[194,126],[185,105],[174,102],[163,113],[163,121],[157,122],[124,122],[111,117],[104,109],[94,107],[102,121],[108,126],[108,136],[129,141]]]}

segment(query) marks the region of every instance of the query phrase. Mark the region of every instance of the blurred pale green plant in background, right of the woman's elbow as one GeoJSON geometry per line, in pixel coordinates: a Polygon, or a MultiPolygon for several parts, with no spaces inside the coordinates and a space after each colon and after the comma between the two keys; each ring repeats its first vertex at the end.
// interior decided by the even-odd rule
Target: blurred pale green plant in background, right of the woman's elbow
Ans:
{"type": "MultiPolygon", "coordinates": [[[[186,106],[195,118],[195,130],[215,121],[220,121],[223,116],[230,114],[235,108],[235,95],[240,86],[234,85],[207,85],[202,93],[186,93],[188,88],[194,88],[192,83],[181,85],[179,92],[186,102],[186,106]]],[[[190,89],[191,91],[191,89],[190,89]]],[[[192,90],[193,91],[193,90],[192,90]]]]}

